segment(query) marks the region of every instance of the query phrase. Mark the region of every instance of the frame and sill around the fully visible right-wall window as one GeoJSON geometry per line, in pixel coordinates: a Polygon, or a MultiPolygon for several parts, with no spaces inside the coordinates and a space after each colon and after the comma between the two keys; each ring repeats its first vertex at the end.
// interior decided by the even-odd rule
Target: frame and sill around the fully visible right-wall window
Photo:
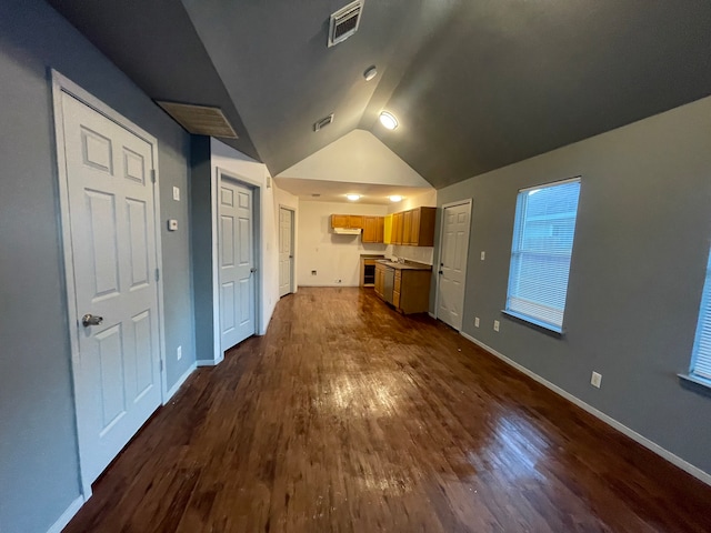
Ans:
{"type": "MultiPolygon", "coordinates": [[[[508,279],[508,283],[507,283],[507,298],[505,298],[505,305],[504,309],[501,311],[505,316],[508,318],[512,318],[514,319],[517,322],[520,322],[524,325],[529,325],[532,326],[541,332],[551,334],[552,336],[557,336],[557,338],[562,338],[564,334],[564,313],[565,313],[565,306],[567,306],[567,300],[568,300],[568,286],[570,284],[570,265],[572,263],[572,255],[573,255],[573,247],[574,247],[574,239],[575,239],[575,230],[577,230],[577,225],[578,225],[578,212],[580,211],[580,194],[582,191],[582,177],[581,175],[577,175],[574,178],[569,178],[569,179],[564,179],[564,180],[558,180],[558,181],[552,181],[549,183],[541,183],[541,184],[537,184],[533,187],[528,187],[528,188],[523,188],[523,189],[519,189],[518,193],[517,193],[517,203],[515,203],[515,215],[514,215],[514,221],[513,221],[513,233],[512,233],[512,238],[511,238],[511,254],[510,254],[510,259],[509,259],[509,279],[508,279]],[[531,314],[527,314],[523,313],[521,311],[517,311],[511,309],[511,299],[512,299],[512,288],[514,284],[517,284],[520,280],[521,276],[519,275],[518,278],[514,278],[514,270],[515,270],[515,259],[521,255],[522,253],[522,240],[521,237],[523,235],[524,232],[524,225],[527,222],[527,218],[525,218],[525,210],[527,210],[527,204],[528,204],[528,198],[530,198],[530,195],[528,195],[528,193],[530,193],[531,191],[540,191],[542,189],[550,189],[553,187],[559,187],[559,185],[564,185],[564,184],[569,184],[569,183],[578,183],[579,184],[579,189],[578,189],[578,202],[575,205],[575,215],[574,215],[574,220],[573,220],[573,229],[572,229],[572,238],[571,238],[571,243],[570,243],[570,252],[567,253],[564,257],[568,259],[568,278],[565,279],[565,286],[564,286],[564,300],[563,300],[563,308],[561,311],[561,321],[560,321],[560,325],[545,321],[544,319],[542,319],[541,316],[535,316],[535,315],[531,315],[531,314]],[[527,194],[524,197],[524,194],[527,194]]],[[[549,254],[549,257],[551,257],[551,254],[549,254]]],[[[532,302],[532,303],[537,303],[537,302],[532,302]]]]}

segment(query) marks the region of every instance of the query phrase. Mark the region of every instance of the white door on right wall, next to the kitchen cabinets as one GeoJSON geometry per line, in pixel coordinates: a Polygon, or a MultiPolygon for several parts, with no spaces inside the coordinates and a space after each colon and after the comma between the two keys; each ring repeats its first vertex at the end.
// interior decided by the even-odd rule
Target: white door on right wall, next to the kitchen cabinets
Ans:
{"type": "Polygon", "coordinates": [[[462,329],[470,218],[469,202],[447,207],[442,211],[437,316],[458,331],[462,329]]]}

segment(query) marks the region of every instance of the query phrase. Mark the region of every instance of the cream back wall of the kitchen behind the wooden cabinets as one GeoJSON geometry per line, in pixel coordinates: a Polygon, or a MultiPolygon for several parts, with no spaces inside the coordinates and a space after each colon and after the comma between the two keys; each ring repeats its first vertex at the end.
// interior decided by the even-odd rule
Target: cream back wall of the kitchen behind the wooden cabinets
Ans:
{"type": "Polygon", "coordinates": [[[363,244],[361,235],[332,233],[333,213],[383,217],[388,213],[388,207],[301,201],[297,241],[297,281],[300,286],[358,286],[361,253],[385,252],[384,244],[363,244]],[[317,274],[312,275],[311,271],[316,271],[317,274]]]}

